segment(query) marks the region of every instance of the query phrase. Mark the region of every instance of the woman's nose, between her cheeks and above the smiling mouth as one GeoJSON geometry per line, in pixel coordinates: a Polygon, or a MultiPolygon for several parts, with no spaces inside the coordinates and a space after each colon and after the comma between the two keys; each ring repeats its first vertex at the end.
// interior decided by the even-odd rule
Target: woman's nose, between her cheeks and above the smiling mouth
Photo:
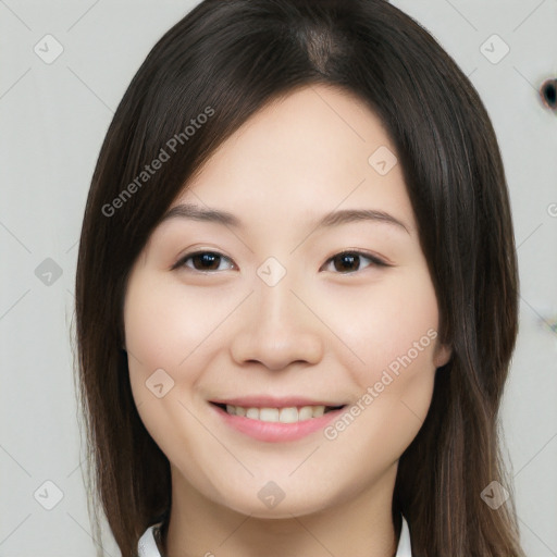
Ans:
{"type": "Polygon", "coordinates": [[[318,363],[323,357],[325,327],[289,274],[274,286],[257,277],[253,288],[237,315],[233,359],[239,366],[260,363],[273,371],[294,363],[318,363]]]}

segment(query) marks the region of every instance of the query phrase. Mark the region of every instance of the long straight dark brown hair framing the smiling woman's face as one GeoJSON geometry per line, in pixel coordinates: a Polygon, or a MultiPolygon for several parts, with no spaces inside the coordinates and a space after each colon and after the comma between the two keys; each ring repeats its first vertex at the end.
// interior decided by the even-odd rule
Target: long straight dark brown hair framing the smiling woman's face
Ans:
{"type": "Polygon", "coordinates": [[[522,557],[512,495],[496,510],[481,497],[494,480],[512,494],[497,428],[518,275],[498,144],[454,60],[383,0],[206,0],[157,42],[128,86],[94,173],[76,275],[94,530],[101,507],[122,556],[132,557],[171,504],[169,461],[138,416],[133,355],[122,349],[134,261],[224,139],[269,101],[318,83],[358,95],[396,146],[437,295],[440,341],[453,347],[400,457],[394,520],[407,518],[418,557],[522,557]],[[156,159],[165,160],[147,172],[156,159]]]}

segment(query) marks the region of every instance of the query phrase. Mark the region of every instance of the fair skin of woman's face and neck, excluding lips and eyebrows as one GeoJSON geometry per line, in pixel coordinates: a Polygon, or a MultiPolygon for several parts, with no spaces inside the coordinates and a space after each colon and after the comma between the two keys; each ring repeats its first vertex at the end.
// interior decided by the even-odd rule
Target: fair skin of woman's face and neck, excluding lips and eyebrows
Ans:
{"type": "Polygon", "coordinates": [[[230,211],[243,227],[171,219],[137,259],[126,349],[138,412],[171,463],[169,557],[395,554],[398,459],[428,412],[447,346],[422,346],[334,440],[319,431],[256,441],[208,401],[271,394],[354,405],[437,330],[401,168],[380,175],[368,162],[381,146],[396,152],[352,95],[323,85],[290,92],[222,144],[172,203],[230,211]],[[314,219],[342,209],[385,211],[408,232],[364,220],[314,230],[314,219]],[[391,267],[331,260],[350,249],[391,267]],[[191,258],[171,269],[197,250],[224,257],[205,272],[191,258]],[[257,273],[271,256],[286,270],[274,286],[257,273]],[[174,384],[159,398],[146,381],[161,368],[174,384]],[[268,508],[258,492],[271,480],[285,496],[268,508]]]}

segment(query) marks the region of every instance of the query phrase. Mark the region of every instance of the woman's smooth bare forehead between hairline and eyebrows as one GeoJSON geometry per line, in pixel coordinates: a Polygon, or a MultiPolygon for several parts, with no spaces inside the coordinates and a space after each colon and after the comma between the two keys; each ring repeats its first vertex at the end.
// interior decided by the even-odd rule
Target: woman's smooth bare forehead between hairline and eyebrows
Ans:
{"type": "Polygon", "coordinates": [[[413,215],[396,150],[357,96],[312,85],[252,115],[171,205],[225,209],[244,221],[313,220],[335,209],[413,215]],[[385,164],[380,164],[377,162],[385,164]]]}

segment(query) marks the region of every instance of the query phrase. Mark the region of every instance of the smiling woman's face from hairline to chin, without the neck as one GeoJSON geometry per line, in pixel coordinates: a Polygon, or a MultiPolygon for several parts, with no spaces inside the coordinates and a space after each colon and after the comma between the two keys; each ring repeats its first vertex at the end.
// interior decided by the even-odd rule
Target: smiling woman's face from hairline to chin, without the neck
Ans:
{"type": "Polygon", "coordinates": [[[395,156],[358,98],[302,88],[231,136],[153,231],[125,343],[173,487],[288,517],[396,473],[449,350],[395,156]]]}

